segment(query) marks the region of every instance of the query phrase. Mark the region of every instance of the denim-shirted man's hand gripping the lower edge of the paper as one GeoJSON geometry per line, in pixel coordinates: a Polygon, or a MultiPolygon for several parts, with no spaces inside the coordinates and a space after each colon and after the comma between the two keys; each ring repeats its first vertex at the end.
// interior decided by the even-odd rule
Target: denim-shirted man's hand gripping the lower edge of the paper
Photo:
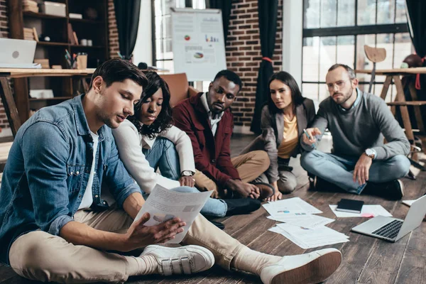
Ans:
{"type": "Polygon", "coordinates": [[[173,218],[155,226],[145,226],[149,219],[150,214],[145,213],[141,219],[131,224],[127,233],[124,234],[121,251],[132,251],[150,244],[165,243],[175,239],[175,235],[183,231],[182,226],[186,225],[179,218],[173,218]]]}

